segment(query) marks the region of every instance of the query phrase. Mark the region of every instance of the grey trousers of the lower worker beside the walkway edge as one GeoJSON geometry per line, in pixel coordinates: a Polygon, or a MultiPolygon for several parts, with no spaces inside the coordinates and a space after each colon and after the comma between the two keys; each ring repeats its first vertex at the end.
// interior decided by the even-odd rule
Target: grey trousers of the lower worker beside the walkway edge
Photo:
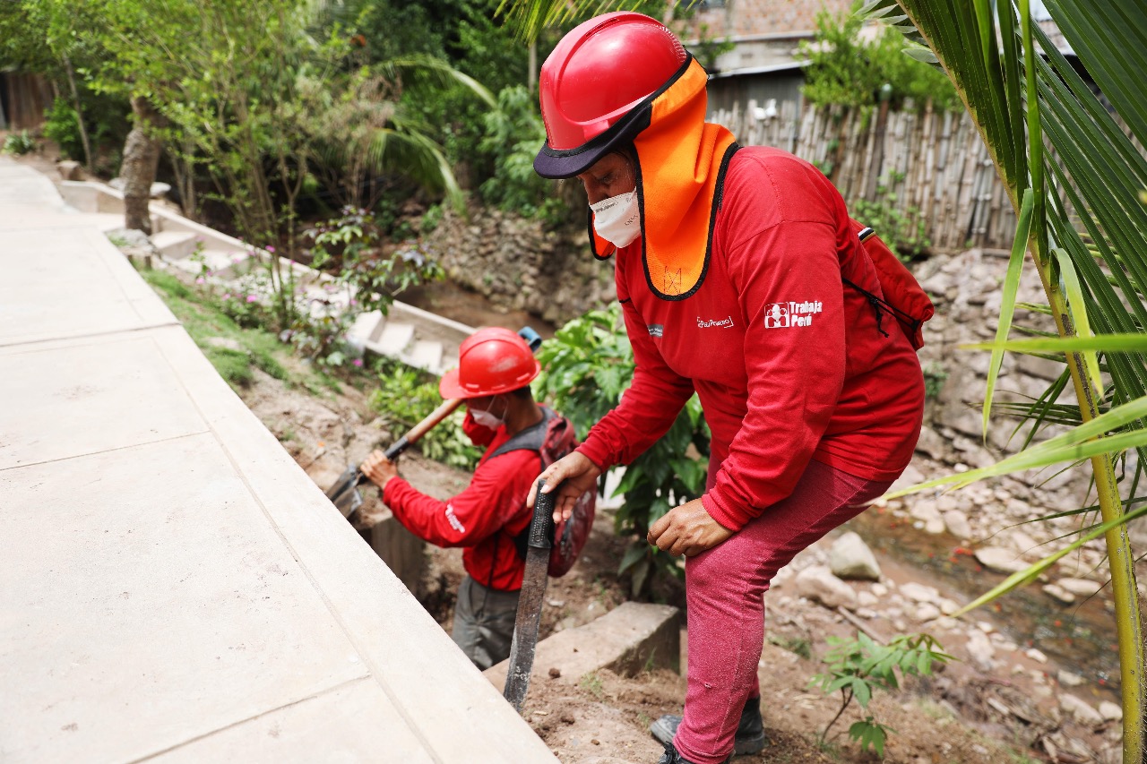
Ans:
{"type": "Polygon", "coordinates": [[[487,588],[469,576],[458,587],[451,638],[483,671],[509,657],[518,594],[487,588]]]}

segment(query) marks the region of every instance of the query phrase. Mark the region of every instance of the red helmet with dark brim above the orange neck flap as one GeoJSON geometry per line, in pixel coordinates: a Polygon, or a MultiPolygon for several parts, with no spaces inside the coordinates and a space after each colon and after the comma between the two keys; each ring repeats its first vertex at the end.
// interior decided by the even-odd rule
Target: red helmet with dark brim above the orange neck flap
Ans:
{"type": "Polygon", "coordinates": [[[643,127],[634,107],[688,61],[673,33],[649,16],[617,11],[579,24],[541,65],[546,145],[533,169],[544,178],[572,178],[631,140],[643,127]]]}

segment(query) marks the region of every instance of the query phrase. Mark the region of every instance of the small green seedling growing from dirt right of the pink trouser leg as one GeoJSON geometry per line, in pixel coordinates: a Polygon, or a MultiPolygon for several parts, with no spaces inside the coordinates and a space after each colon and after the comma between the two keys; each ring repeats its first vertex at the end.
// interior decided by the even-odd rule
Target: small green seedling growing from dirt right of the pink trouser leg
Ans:
{"type": "MultiPolygon", "coordinates": [[[[900,634],[888,645],[881,645],[863,632],[857,632],[856,639],[828,637],[827,641],[833,647],[824,658],[828,670],[813,676],[809,686],[820,685],[820,689],[828,695],[840,692],[841,708],[821,731],[818,738],[821,744],[827,742],[828,731],[853,700],[867,710],[876,691],[899,689],[897,671],[902,678],[927,677],[931,676],[935,663],[952,660],[928,634],[900,634]]],[[[867,715],[849,727],[849,738],[858,741],[864,750],[872,748],[883,756],[889,732],[896,731],[867,715]]]]}

